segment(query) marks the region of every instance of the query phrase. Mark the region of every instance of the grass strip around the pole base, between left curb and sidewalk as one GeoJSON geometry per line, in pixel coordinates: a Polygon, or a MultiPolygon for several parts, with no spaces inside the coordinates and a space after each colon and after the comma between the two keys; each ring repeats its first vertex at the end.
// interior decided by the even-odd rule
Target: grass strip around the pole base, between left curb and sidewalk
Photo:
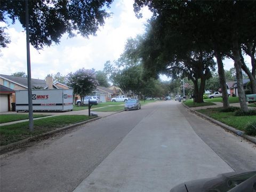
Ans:
{"type": "Polygon", "coordinates": [[[94,117],[89,117],[87,115],[61,115],[37,119],[34,120],[34,132],[29,131],[29,122],[1,126],[0,145],[4,146],[60,127],[83,122],[90,118],[94,117]]]}

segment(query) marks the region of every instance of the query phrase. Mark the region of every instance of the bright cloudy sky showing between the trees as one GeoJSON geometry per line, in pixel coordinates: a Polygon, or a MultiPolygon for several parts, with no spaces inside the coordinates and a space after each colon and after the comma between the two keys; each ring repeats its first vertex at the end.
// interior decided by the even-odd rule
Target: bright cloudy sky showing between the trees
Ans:
{"type": "MultiPolygon", "coordinates": [[[[89,39],[81,36],[67,38],[60,44],[53,44],[37,51],[30,45],[31,77],[44,79],[47,74],[60,72],[67,75],[80,68],[103,70],[104,63],[113,62],[123,53],[127,38],[145,32],[145,23],[151,17],[148,9],[143,9],[143,18],[138,19],[133,12],[133,1],[116,0],[109,10],[113,15],[105,20],[97,36],[89,39]]],[[[0,74],[11,75],[18,71],[27,73],[26,32],[19,23],[8,27],[11,43],[0,52],[0,74]]],[[[234,66],[232,60],[225,60],[225,68],[234,66]]],[[[168,80],[161,76],[164,81],[168,80]]]]}

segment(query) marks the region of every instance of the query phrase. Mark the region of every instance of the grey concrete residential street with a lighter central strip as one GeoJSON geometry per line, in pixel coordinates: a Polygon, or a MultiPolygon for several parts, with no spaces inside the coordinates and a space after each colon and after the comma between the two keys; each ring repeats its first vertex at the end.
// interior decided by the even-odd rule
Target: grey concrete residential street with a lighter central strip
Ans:
{"type": "Polygon", "coordinates": [[[154,102],[1,155],[1,191],[170,191],[219,173],[256,170],[256,146],[154,102]]]}

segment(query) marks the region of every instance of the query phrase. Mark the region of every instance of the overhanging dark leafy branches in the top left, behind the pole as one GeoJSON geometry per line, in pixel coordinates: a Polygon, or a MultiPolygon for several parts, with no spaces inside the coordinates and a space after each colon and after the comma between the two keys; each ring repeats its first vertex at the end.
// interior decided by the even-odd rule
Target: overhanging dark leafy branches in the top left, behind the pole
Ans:
{"type": "MultiPolygon", "coordinates": [[[[110,16],[105,7],[113,0],[42,0],[28,1],[30,43],[35,49],[59,43],[63,34],[69,37],[81,34],[83,37],[96,35],[99,26],[110,16]]],[[[0,22],[14,23],[19,20],[25,28],[25,1],[1,1],[0,22]]],[[[4,28],[0,30],[1,46],[9,42],[4,28]],[[3,43],[2,43],[3,42],[3,43]]]]}

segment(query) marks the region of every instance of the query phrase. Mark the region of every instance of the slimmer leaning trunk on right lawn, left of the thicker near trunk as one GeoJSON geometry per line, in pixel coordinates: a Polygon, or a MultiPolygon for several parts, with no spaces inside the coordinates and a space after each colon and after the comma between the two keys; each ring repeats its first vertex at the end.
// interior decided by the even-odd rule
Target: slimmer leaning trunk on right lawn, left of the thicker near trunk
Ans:
{"type": "Polygon", "coordinates": [[[229,107],[228,90],[227,90],[227,83],[225,78],[225,70],[222,62],[222,55],[217,50],[214,50],[214,52],[215,52],[215,57],[217,59],[217,65],[218,65],[218,74],[219,74],[219,81],[220,81],[220,86],[222,91],[223,108],[228,108],[229,107]]]}

